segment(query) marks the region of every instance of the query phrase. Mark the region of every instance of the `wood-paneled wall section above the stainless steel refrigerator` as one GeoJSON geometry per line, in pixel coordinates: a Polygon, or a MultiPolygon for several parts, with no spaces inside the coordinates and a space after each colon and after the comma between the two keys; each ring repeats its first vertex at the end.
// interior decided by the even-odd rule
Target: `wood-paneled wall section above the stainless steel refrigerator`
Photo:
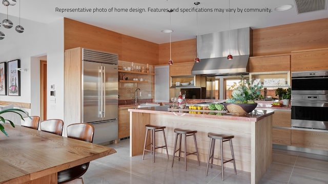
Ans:
{"type": "Polygon", "coordinates": [[[76,47],[116,53],[127,62],[158,64],[158,44],[64,18],[64,49],[76,47]]]}

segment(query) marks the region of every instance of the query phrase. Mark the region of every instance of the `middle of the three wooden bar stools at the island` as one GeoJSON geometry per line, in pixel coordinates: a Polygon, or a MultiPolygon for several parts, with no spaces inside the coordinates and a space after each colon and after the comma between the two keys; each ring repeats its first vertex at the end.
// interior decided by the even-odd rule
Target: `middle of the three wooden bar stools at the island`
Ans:
{"type": "Polygon", "coordinates": [[[187,171],[187,156],[188,155],[197,155],[198,165],[200,166],[200,161],[199,161],[199,156],[198,156],[198,149],[197,149],[197,142],[196,142],[196,133],[197,133],[197,131],[196,130],[193,131],[193,130],[184,130],[184,129],[176,128],[176,129],[174,129],[174,132],[176,133],[176,136],[175,136],[175,142],[174,142],[172,167],[173,167],[175,157],[178,157],[179,161],[180,161],[180,158],[185,158],[185,170],[187,171]],[[180,135],[179,148],[176,149],[176,143],[177,143],[179,135],[180,135]],[[185,149],[183,151],[181,151],[181,138],[182,138],[182,135],[185,135],[184,140],[183,140],[185,149]],[[195,143],[195,149],[196,149],[195,152],[192,152],[192,153],[187,152],[187,137],[188,136],[194,136],[194,143],[195,143]],[[176,152],[179,152],[179,156],[175,156],[176,152]],[[185,157],[180,156],[181,152],[185,153],[185,157]]]}

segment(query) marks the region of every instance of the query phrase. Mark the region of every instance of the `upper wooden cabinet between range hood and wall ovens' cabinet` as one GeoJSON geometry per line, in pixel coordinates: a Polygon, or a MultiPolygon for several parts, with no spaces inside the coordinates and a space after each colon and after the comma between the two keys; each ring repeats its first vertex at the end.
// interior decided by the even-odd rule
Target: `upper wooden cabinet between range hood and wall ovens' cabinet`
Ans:
{"type": "Polygon", "coordinates": [[[250,57],[250,72],[290,71],[290,55],[250,57]]]}

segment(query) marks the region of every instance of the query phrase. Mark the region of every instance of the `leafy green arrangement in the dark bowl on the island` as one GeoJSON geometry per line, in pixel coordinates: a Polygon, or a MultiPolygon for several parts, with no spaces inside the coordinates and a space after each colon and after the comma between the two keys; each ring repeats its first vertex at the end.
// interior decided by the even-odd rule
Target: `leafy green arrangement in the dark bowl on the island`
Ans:
{"type": "Polygon", "coordinates": [[[253,83],[249,79],[244,79],[241,76],[239,83],[234,83],[229,89],[233,89],[232,98],[227,99],[227,103],[236,104],[254,104],[254,100],[261,97],[261,89],[263,85],[260,85],[260,79],[255,79],[253,83]]]}

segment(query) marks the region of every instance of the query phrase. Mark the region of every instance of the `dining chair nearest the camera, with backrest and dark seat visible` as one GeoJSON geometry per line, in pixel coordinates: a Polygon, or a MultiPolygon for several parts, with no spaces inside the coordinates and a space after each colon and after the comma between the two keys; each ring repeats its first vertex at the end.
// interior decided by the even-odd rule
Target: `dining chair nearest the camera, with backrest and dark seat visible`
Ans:
{"type": "MultiPolygon", "coordinates": [[[[67,126],[67,137],[79,139],[87,142],[93,141],[94,128],[91,124],[79,123],[71,124],[67,126]]],[[[83,163],[82,165],[75,166],[73,168],[60,171],[57,173],[57,182],[66,183],[72,180],[79,180],[83,183],[83,179],[80,178],[87,172],[89,163],[83,163]]]]}

